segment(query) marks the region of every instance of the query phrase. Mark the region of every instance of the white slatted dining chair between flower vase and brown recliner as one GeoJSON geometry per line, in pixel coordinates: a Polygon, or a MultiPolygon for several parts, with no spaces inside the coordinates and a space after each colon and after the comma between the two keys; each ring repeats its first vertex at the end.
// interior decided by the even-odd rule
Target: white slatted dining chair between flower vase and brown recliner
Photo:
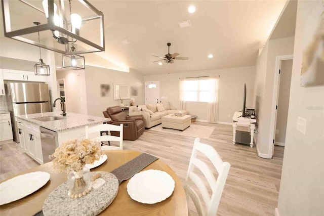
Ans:
{"type": "Polygon", "coordinates": [[[116,131],[119,132],[119,137],[111,136],[111,135],[104,135],[99,136],[94,139],[99,140],[100,142],[105,141],[117,141],[119,142],[119,146],[101,146],[102,150],[113,150],[113,149],[123,149],[123,124],[113,125],[113,124],[98,124],[98,125],[90,125],[86,126],[86,139],[89,139],[89,134],[99,133],[102,131],[116,131]]]}

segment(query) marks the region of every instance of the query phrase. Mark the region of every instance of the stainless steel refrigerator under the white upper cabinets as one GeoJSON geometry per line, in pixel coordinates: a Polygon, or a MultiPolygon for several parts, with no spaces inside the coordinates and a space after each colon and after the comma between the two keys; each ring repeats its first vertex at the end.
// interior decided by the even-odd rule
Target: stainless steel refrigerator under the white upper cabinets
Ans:
{"type": "Polygon", "coordinates": [[[5,84],[5,91],[14,141],[19,143],[16,116],[51,112],[49,88],[45,83],[8,82],[5,84]]]}

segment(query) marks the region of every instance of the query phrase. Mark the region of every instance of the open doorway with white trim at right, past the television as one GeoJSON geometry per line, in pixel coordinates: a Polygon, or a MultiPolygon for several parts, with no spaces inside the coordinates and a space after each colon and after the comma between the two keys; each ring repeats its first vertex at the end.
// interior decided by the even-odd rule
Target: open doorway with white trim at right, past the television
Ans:
{"type": "Polygon", "coordinates": [[[285,146],[290,84],[293,68],[293,57],[278,56],[276,58],[276,74],[273,88],[273,110],[271,119],[270,142],[272,155],[274,146],[285,146]]]}

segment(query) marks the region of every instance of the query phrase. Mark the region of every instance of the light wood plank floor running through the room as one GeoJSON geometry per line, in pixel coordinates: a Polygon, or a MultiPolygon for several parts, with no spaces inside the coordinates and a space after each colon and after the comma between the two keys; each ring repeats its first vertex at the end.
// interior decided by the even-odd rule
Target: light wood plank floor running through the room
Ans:
{"type": "MultiPolygon", "coordinates": [[[[274,215],[277,207],[284,147],[275,146],[273,159],[257,156],[256,148],[232,144],[232,126],[195,122],[214,126],[209,139],[223,161],[231,164],[217,215],[274,215]]],[[[242,129],[242,128],[240,128],[242,129]]],[[[193,137],[145,130],[136,141],[124,141],[124,149],[146,152],[169,164],[184,183],[193,137]]],[[[17,143],[4,144],[0,150],[0,181],[38,164],[17,143]]],[[[193,206],[190,204],[190,209],[193,206]]]]}

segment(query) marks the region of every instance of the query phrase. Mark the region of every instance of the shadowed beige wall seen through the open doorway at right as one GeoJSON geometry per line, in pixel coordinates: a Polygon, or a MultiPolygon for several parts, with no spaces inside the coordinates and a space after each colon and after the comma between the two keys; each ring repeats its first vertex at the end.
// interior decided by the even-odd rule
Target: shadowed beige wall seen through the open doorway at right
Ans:
{"type": "Polygon", "coordinates": [[[293,60],[281,61],[275,143],[285,145],[293,60]]]}

